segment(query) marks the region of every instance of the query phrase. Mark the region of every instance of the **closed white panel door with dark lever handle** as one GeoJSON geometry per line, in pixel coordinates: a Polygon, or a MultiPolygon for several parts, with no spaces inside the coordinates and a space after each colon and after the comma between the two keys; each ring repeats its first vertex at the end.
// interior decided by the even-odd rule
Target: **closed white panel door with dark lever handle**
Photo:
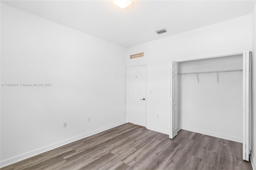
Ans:
{"type": "Polygon", "coordinates": [[[128,122],[146,127],[146,65],[128,68],[128,122]]]}

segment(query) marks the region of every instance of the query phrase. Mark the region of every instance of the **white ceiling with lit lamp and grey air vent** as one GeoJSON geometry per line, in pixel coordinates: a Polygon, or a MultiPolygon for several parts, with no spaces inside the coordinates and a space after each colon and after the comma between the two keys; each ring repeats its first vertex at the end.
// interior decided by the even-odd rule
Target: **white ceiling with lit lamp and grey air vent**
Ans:
{"type": "Polygon", "coordinates": [[[124,47],[251,14],[255,0],[133,0],[125,9],[111,0],[1,1],[124,47]],[[165,28],[164,34],[156,30],[165,28]]]}

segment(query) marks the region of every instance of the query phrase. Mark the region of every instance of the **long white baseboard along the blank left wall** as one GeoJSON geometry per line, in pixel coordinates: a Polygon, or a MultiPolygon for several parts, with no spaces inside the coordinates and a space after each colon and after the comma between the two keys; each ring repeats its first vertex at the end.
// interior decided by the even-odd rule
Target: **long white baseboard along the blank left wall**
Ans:
{"type": "Polygon", "coordinates": [[[50,144],[48,146],[44,146],[42,148],[38,148],[38,149],[31,150],[29,152],[26,152],[26,153],[23,153],[23,154],[20,154],[20,155],[17,155],[17,156],[13,156],[11,158],[2,160],[0,162],[0,167],[2,168],[4,166],[13,164],[13,163],[18,162],[20,160],[24,160],[26,158],[30,158],[32,156],[35,156],[35,155],[47,152],[49,150],[58,148],[60,146],[64,146],[64,145],[69,144],[71,142],[74,142],[76,140],[80,140],[82,138],[86,138],[88,136],[92,136],[92,135],[97,134],[99,132],[108,130],[108,129],[113,128],[113,127],[117,127],[119,125],[123,125],[125,123],[126,123],[126,121],[121,121],[121,122],[118,122],[118,123],[114,123],[112,125],[109,125],[109,126],[106,126],[106,127],[103,127],[103,128],[99,128],[99,129],[96,129],[96,130],[93,130],[93,131],[90,131],[90,132],[87,132],[87,133],[84,133],[84,134],[81,134],[81,135],[78,135],[78,136],[74,136],[72,138],[68,138],[68,139],[62,140],[60,142],[56,142],[56,143],[50,144]]]}

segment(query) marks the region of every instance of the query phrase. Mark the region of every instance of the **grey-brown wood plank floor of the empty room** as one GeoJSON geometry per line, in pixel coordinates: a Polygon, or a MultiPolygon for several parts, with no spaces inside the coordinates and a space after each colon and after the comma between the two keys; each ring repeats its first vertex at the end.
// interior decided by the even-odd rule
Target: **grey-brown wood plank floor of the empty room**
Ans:
{"type": "Polygon", "coordinates": [[[132,124],[106,130],[1,170],[252,170],[242,144],[180,130],[174,139],[132,124]]]}

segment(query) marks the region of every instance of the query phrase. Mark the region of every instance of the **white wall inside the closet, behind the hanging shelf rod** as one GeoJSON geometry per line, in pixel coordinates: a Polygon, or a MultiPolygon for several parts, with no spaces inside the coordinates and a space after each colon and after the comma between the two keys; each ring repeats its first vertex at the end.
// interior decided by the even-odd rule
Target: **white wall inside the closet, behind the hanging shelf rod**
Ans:
{"type": "MultiPolygon", "coordinates": [[[[242,69],[242,55],[179,63],[180,73],[242,69]]],[[[242,142],[242,71],[180,75],[180,123],[184,130],[242,142]]]]}

